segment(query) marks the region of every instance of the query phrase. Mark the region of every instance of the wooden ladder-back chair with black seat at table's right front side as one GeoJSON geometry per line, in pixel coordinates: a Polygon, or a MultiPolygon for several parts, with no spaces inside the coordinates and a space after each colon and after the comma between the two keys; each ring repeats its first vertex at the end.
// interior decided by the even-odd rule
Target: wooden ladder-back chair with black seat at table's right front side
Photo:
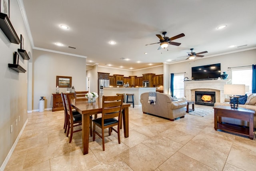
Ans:
{"type": "Polygon", "coordinates": [[[118,135],[118,143],[120,144],[120,125],[122,122],[122,105],[124,95],[102,96],[102,117],[92,120],[93,131],[92,141],[95,141],[95,134],[102,139],[103,151],[105,151],[104,129],[108,128],[108,135],[114,130],[118,135]],[[118,117],[118,119],[116,119],[118,117]],[[96,125],[101,128],[101,135],[96,131],[96,125]],[[117,125],[117,129],[114,126],[117,125]]]}

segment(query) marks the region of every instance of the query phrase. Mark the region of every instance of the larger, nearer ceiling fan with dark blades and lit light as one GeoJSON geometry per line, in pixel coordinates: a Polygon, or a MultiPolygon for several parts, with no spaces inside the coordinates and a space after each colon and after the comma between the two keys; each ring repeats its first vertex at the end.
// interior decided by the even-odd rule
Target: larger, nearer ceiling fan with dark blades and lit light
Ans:
{"type": "MultiPolygon", "coordinates": [[[[162,32],[162,34],[164,35],[164,37],[162,37],[160,34],[156,34],[156,36],[160,39],[159,42],[157,43],[152,43],[152,44],[158,44],[160,43],[160,46],[157,50],[160,50],[161,48],[165,49],[168,47],[168,44],[171,44],[171,45],[175,45],[175,46],[180,46],[181,43],[177,43],[177,42],[171,42],[172,40],[175,40],[175,39],[178,39],[178,38],[181,38],[183,36],[185,36],[184,33],[182,34],[178,34],[177,36],[174,36],[172,38],[169,38],[169,37],[166,37],[165,35],[167,34],[167,32],[162,32]]],[[[147,45],[151,45],[151,44],[146,44],[147,45]]]]}

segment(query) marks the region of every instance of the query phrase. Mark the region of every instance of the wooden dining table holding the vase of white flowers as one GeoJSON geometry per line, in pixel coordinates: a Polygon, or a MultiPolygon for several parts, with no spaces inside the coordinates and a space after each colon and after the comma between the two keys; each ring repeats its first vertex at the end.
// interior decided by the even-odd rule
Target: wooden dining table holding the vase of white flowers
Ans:
{"type": "MultiPolygon", "coordinates": [[[[71,106],[82,114],[82,152],[88,154],[90,115],[102,113],[102,98],[97,98],[95,102],[88,102],[88,99],[71,99],[71,106]]],[[[129,137],[129,103],[122,105],[122,120],[124,137],[129,137]]]]}

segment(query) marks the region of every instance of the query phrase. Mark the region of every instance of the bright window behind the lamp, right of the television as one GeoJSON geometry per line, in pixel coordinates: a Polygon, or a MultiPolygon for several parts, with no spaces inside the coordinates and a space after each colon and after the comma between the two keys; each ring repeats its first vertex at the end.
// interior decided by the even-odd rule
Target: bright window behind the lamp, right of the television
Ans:
{"type": "Polygon", "coordinates": [[[252,93],[252,68],[232,70],[232,84],[245,84],[246,93],[252,93]]]}

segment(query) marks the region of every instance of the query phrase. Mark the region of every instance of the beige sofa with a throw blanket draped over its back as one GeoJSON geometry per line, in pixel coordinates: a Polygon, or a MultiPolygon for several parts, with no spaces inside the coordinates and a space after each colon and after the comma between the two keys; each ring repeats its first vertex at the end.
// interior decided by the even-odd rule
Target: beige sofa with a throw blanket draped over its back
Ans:
{"type": "Polygon", "coordinates": [[[172,97],[168,94],[156,92],[156,104],[150,104],[148,103],[148,93],[142,93],[140,103],[142,104],[143,113],[165,117],[171,121],[186,115],[186,100],[172,101],[172,97]]]}

